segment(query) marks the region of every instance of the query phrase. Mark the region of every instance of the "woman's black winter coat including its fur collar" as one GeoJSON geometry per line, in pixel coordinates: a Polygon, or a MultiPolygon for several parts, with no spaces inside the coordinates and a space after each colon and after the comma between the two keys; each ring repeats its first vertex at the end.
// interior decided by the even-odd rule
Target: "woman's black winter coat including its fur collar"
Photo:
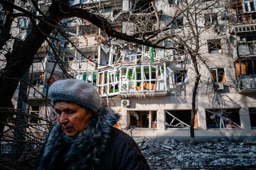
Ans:
{"type": "Polygon", "coordinates": [[[49,132],[38,169],[150,169],[134,140],[113,127],[119,117],[102,107],[74,138],[65,136],[57,123],[49,132]]]}

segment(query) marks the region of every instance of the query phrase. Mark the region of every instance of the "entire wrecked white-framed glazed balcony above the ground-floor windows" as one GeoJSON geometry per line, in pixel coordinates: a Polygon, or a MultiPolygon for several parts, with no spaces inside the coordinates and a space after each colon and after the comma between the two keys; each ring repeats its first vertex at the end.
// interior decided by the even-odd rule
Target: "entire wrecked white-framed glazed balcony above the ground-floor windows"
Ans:
{"type": "Polygon", "coordinates": [[[166,95],[166,66],[122,66],[98,73],[98,91],[101,95],[166,95]]]}

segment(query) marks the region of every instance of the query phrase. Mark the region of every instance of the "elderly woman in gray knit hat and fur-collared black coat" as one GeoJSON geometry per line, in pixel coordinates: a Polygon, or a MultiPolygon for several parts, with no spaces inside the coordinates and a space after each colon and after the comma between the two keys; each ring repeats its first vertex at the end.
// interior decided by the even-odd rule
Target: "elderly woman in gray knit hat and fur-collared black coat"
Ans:
{"type": "Polygon", "coordinates": [[[113,127],[120,115],[101,105],[91,84],[56,81],[49,98],[58,123],[49,132],[38,169],[150,169],[134,140],[113,127]]]}

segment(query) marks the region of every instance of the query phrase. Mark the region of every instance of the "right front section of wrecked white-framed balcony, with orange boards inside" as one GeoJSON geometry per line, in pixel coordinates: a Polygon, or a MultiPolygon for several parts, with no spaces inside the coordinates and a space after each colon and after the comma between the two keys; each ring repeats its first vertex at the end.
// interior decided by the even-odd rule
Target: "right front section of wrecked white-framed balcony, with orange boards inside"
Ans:
{"type": "Polygon", "coordinates": [[[121,67],[121,96],[166,95],[166,65],[121,67]]]}

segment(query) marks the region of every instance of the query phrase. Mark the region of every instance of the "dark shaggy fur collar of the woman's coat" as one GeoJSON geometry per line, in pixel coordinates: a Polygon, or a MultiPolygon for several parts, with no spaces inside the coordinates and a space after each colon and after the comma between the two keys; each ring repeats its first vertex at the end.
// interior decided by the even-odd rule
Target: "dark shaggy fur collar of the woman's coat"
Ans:
{"type": "MultiPolygon", "coordinates": [[[[100,161],[105,151],[111,128],[120,115],[114,114],[108,107],[102,107],[94,114],[87,124],[87,129],[75,137],[74,142],[67,147],[62,161],[69,164],[66,169],[93,169],[100,161]]],[[[63,153],[62,129],[57,123],[46,140],[38,169],[53,169],[58,164],[59,154],[63,153]]]]}

